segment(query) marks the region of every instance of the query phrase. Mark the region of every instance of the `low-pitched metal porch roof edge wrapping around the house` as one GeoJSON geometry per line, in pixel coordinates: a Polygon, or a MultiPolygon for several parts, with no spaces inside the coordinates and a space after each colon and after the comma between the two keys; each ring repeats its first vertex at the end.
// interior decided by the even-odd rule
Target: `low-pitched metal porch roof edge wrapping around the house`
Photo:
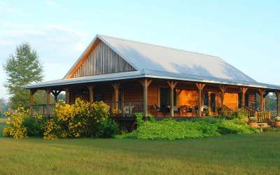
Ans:
{"type": "Polygon", "coordinates": [[[151,70],[108,73],[108,74],[102,74],[96,76],[85,76],[80,78],[51,80],[42,83],[25,85],[22,86],[22,88],[43,89],[45,87],[59,87],[59,86],[66,86],[66,85],[77,85],[81,83],[125,80],[125,79],[132,79],[132,78],[160,78],[160,79],[169,79],[169,80],[185,80],[185,81],[193,81],[199,83],[237,85],[237,86],[246,86],[246,87],[265,88],[270,90],[280,90],[279,85],[269,85],[265,83],[251,83],[251,82],[244,82],[239,80],[230,80],[230,79],[214,78],[214,77],[202,77],[202,76],[187,75],[183,73],[169,73],[164,71],[151,71],[151,70]]]}

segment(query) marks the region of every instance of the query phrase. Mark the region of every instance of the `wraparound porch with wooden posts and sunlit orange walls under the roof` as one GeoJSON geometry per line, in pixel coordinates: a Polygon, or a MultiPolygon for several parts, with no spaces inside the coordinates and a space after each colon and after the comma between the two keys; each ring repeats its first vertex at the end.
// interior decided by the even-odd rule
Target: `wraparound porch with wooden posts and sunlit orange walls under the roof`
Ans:
{"type": "MultiPolygon", "coordinates": [[[[279,92],[274,90],[156,78],[46,87],[47,104],[43,105],[33,104],[36,90],[30,90],[30,109],[34,114],[45,116],[54,114],[50,97],[57,102],[57,95],[62,91],[66,94],[66,103],[72,103],[78,97],[87,102],[103,101],[115,111],[114,116],[119,117],[133,117],[135,113],[145,116],[150,113],[157,118],[218,116],[242,108],[248,116],[267,120],[272,116],[265,111],[265,96],[275,92],[279,104],[279,92]],[[259,111],[255,105],[257,94],[260,96],[259,111]]],[[[276,115],[279,116],[279,105],[276,115]]]]}

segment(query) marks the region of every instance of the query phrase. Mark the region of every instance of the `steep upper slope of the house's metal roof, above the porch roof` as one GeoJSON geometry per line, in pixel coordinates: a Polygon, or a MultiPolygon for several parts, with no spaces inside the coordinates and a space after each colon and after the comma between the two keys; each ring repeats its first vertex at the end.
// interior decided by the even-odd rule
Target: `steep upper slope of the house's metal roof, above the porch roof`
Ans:
{"type": "Polygon", "coordinates": [[[228,64],[220,57],[197,52],[167,48],[159,45],[129,41],[111,36],[97,38],[129,62],[135,69],[185,73],[230,80],[256,82],[245,73],[228,64]]]}

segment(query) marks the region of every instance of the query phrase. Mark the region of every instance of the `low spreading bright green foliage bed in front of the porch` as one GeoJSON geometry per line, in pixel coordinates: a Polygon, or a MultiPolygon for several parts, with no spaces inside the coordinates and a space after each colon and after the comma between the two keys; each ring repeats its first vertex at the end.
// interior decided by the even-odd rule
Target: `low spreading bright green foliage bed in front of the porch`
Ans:
{"type": "Polygon", "coordinates": [[[137,130],[118,135],[118,138],[132,139],[200,139],[223,134],[252,134],[258,130],[249,127],[244,120],[223,118],[200,118],[188,121],[165,119],[158,122],[149,120],[137,123],[137,130]]]}

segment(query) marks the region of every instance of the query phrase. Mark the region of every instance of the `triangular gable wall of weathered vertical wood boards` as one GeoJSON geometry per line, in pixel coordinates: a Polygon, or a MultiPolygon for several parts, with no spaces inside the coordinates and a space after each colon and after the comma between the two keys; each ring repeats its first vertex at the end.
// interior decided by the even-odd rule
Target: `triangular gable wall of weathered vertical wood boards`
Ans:
{"type": "Polygon", "coordinates": [[[100,42],[73,74],[73,77],[94,76],[105,73],[136,71],[111,48],[100,42]]]}

